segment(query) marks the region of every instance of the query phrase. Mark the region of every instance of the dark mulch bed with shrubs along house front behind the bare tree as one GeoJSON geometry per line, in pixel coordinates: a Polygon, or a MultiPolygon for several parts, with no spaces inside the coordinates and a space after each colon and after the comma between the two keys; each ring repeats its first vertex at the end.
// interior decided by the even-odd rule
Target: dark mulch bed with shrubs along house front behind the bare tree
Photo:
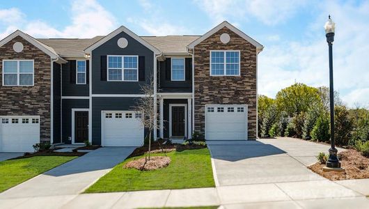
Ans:
{"type": "MultiPolygon", "coordinates": [[[[151,150],[150,153],[168,153],[171,151],[178,151],[181,152],[183,150],[194,150],[194,149],[202,149],[206,148],[206,146],[196,145],[196,144],[164,144],[166,140],[159,139],[157,141],[153,141],[151,144],[151,150]]],[[[144,155],[148,153],[148,146],[141,146],[139,148],[136,148],[131,155],[129,155],[127,158],[130,157],[136,157],[140,155],[144,155]]]]}

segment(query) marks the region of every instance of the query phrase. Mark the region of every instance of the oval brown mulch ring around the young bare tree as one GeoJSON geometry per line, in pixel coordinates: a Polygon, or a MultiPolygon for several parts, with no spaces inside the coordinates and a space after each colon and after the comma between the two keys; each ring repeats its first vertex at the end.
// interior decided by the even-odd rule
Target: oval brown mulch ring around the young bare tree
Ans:
{"type": "Polygon", "coordinates": [[[125,169],[137,169],[139,171],[152,171],[167,167],[171,158],[164,156],[142,157],[139,160],[132,160],[123,166],[125,169]]]}

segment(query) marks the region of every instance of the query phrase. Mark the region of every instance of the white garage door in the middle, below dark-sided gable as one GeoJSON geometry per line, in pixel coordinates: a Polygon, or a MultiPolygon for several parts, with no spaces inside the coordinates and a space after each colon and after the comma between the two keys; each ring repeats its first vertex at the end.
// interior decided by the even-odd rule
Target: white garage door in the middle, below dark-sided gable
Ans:
{"type": "Polygon", "coordinates": [[[143,145],[141,117],[135,111],[102,111],[102,146],[143,145]]]}

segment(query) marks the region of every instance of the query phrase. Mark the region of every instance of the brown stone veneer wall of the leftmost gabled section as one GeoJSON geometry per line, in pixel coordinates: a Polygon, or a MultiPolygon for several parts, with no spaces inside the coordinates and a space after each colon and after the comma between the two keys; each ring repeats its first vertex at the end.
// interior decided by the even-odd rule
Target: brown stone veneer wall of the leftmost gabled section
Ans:
{"type": "Polygon", "coordinates": [[[17,36],[0,47],[0,81],[4,59],[33,59],[34,86],[3,86],[1,82],[0,116],[40,116],[40,140],[50,141],[50,56],[17,36]],[[13,50],[15,42],[22,42],[22,52],[13,50]]]}

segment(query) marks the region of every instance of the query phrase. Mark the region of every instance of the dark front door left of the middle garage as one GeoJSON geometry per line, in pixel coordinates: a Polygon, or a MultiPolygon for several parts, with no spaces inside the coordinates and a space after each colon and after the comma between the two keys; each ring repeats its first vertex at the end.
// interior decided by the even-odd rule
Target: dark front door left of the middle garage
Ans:
{"type": "Polygon", "coordinates": [[[76,111],[74,120],[74,143],[84,143],[88,140],[88,111],[76,111]]]}

